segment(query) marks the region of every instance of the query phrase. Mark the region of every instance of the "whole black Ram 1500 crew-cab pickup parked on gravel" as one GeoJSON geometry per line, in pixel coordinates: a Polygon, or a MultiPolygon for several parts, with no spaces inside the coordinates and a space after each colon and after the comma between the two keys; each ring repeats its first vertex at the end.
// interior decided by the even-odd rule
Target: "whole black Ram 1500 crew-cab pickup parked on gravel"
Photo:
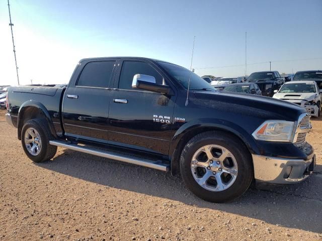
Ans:
{"type": "Polygon", "coordinates": [[[224,202],[252,180],[296,183],[314,168],[305,109],[216,91],[164,61],[81,60],[66,88],[11,87],[7,121],[34,162],[57,146],[181,174],[197,196],[224,202]]]}

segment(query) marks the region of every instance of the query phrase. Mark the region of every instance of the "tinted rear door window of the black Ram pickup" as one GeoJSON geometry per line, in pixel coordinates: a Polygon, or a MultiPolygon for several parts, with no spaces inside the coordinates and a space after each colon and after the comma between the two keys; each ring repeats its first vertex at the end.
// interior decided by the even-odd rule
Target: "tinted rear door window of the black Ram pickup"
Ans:
{"type": "Polygon", "coordinates": [[[76,85],[107,88],[111,80],[114,65],[115,61],[95,61],[87,63],[76,85]]]}

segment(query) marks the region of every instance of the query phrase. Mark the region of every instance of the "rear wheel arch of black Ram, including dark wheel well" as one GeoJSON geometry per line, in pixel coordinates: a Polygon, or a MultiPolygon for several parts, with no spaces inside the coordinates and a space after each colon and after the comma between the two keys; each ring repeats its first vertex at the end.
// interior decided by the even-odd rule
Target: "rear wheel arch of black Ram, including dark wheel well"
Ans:
{"type": "Polygon", "coordinates": [[[44,118],[47,122],[51,134],[55,138],[57,138],[56,131],[47,108],[38,101],[28,100],[20,106],[18,111],[17,127],[19,140],[21,140],[21,131],[26,122],[26,119],[28,120],[33,118],[44,118]]]}

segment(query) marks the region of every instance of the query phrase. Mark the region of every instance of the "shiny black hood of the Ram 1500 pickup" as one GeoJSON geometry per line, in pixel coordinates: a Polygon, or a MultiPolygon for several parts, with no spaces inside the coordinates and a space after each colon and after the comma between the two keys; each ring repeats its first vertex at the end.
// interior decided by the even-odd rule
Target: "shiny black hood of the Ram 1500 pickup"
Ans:
{"type": "Polygon", "coordinates": [[[198,104],[205,107],[267,119],[297,121],[298,116],[306,112],[298,104],[261,95],[227,91],[195,91],[194,94],[200,100],[198,104]]]}

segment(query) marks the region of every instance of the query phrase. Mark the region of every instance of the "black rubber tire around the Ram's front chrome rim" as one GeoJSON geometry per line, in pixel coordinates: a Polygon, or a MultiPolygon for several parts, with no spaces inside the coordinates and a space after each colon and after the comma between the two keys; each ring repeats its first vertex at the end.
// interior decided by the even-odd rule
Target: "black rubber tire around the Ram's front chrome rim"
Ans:
{"type": "Polygon", "coordinates": [[[187,188],[196,196],[210,202],[226,202],[241,196],[250,186],[254,170],[252,157],[244,143],[233,135],[220,131],[210,131],[198,134],[184,147],[180,157],[180,172],[187,188]],[[201,187],[194,179],[191,171],[191,160],[194,153],[206,145],[220,145],[226,148],[238,165],[238,173],[233,184],[222,191],[209,191],[201,187]]]}

